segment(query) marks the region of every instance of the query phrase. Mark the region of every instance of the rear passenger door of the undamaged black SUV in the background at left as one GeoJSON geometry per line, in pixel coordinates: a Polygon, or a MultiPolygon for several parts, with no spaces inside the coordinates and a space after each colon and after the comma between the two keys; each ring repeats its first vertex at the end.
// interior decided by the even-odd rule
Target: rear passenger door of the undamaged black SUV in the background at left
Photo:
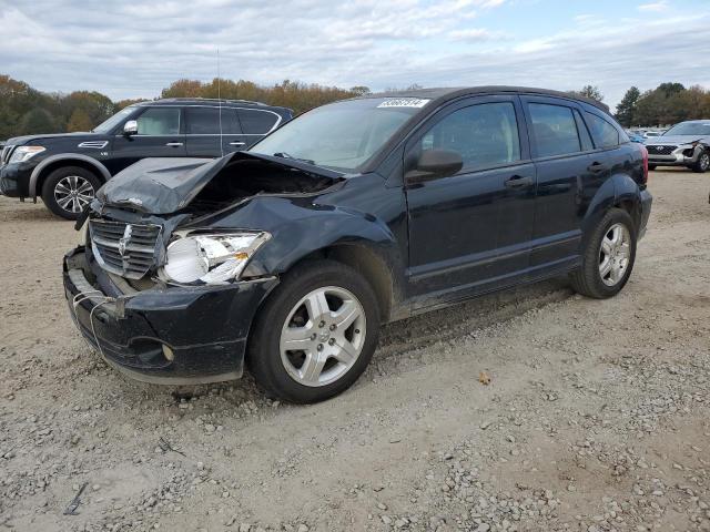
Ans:
{"type": "Polygon", "coordinates": [[[250,139],[242,133],[233,108],[189,106],[185,122],[190,157],[221,157],[248,145],[250,139]]]}

